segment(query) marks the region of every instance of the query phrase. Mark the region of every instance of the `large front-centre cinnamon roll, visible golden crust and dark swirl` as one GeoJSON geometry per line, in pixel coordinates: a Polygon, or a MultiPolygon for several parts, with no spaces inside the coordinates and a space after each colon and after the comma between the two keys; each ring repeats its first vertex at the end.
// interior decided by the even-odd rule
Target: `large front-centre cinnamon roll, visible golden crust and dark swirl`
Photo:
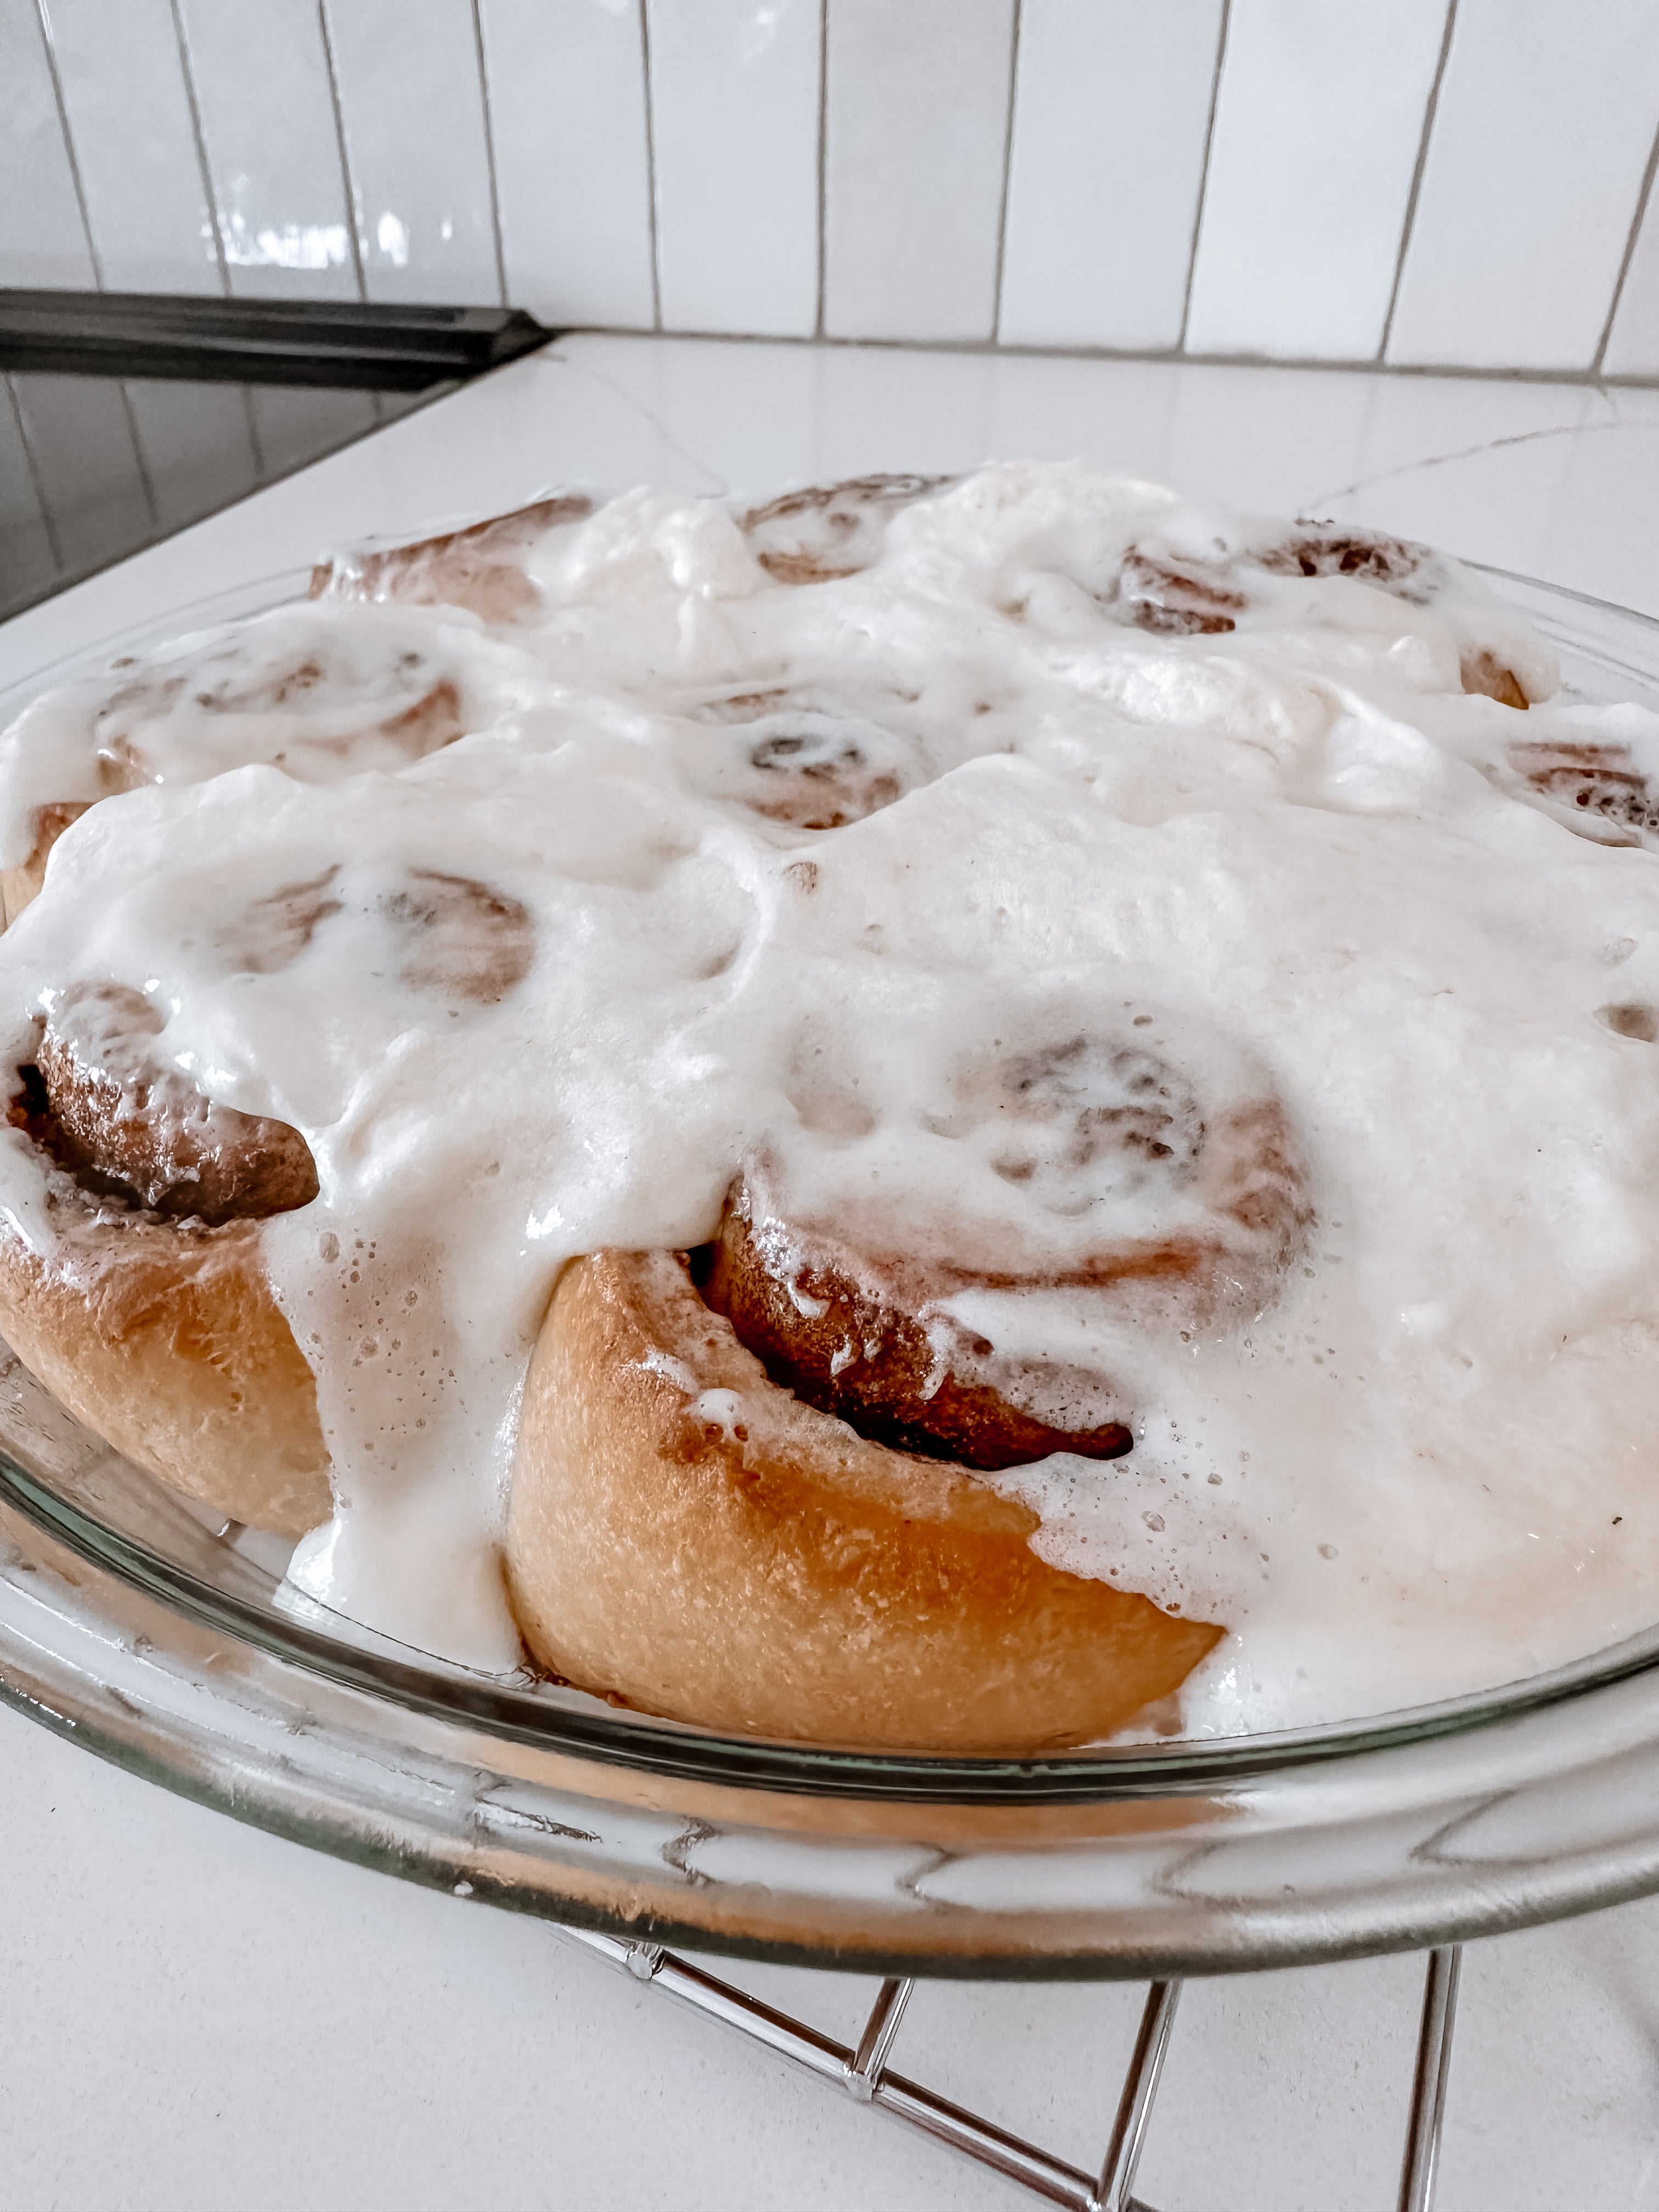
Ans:
{"type": "Polygon", "coordinates": [[[975,1250],[971,1201],[931,1239],[902,1210],[883,1234],[856,1166],[834,1225],[792,1214],[759,1166],[708,1248],[566,1272],[507,1548],[544,1666],[810,1741],[916,1747],[925,1714],[929,1745],[975,1752],[1086,1743],[1179,1688],[1221,1628],[1046,1566],[1029,1506],[984,1482],[1053,1453],[1113,1462],[1137,1407],[1110,1374],[998,1345],[984,1307],[951,1310],[1066,1292],[1172,1334],[1274,1303],[1312,1223],[1283,1110],[1201,1102],[1133,1037],[980,1051],[929,1115],[1037,1214],[1086,1223],[1046,1265],[1009,1221],[975,1250]]]}

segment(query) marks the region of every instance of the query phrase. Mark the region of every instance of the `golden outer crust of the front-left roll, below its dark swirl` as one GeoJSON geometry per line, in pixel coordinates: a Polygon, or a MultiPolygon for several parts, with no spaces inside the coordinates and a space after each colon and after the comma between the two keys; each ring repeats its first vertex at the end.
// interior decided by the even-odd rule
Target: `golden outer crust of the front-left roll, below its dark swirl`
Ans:
{"type": "Polygon", "coordinates": [[[316,1385],[276,1310],[252,1221],[159,1221],[69,1177],[42,1250],[0,1212],[0,1336],[128,1460],[230,1520],[303,1535],[327,1520],[316,1385]]]}

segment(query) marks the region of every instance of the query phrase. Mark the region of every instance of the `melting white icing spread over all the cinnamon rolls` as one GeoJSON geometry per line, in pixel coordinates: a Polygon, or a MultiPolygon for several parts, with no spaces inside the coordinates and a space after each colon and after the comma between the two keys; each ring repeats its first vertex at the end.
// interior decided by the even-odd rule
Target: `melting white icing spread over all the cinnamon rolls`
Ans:
{"type": "MultiPolygon", "coordinates": [[[[1188,1725],[1398,1708],[1650,1621],[1659,858],[1639,823],[1575,834],[1601,816],[1511,748],[1624,748],[1639,774],[1659,726],[1464,695],[1471,653],[1535,699],[1553,675],[1449,562],[1422,604],[1250,571],[1230,633],[1128,619],[1133,544],[1203,564],[1283,535],[995,467],[858,522],[869,566],[796,588],[734,509],[639,491],[526,549],[533,626],[325,602],[223,633],[259,666],[327,650],[338,697],[283,732],[144,723],[155,781],[64,834],[0,940],[0,1042],[27,1057],[69,982],[128,984],[168,1064],[312,1146],[321,1197],[263,1228],[338,1475],[307,1593],[511,1666],[502,1486],[557,1272],[706,1239],[759,1150],[900,1250],[1064,1265],[1201,1228],[1172,1172],[1068,1181],[1040,1128],[1029,1172],[1006,1150],[975,1068],[1079,1033],[1155,1040],[1206,1110],[1265,1084],[1310,1177],[1307,1250],[1261,1312],[940,1307],[1000,1358],[1104,1378],[1133,1422],[1126,1460],[993,1480],[1037,1504],[1044,1557],[1232,1630],[1188,1725]],[[396,750],[354,670],[400,650],[471,734],[396,750]],[[757,812],[774,785],[790,805],[757,812]],[[843,827],[801,827],[818,787],[843,827]],[[283,933],[279,894],[323,878],[330,911],[283,933]],[[493,998],[507,925],[431,891],[456,880],[522,909],[533,958],[493,998]]],[[[0,858],[100,787],[106,695],[0,739],[0,858]]],[[[38,1190],[7,1133],[0,1206],[35,1239],[38,1190]]]]}

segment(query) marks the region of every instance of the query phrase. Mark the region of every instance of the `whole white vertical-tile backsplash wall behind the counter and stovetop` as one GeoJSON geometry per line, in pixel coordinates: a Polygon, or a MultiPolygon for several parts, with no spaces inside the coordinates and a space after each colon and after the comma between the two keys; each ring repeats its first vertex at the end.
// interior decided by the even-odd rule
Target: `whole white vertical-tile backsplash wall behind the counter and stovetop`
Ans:
{"type": "Polygon", "coordinates": [[[0,0],[0,283],[1659,380],[1655,0],[0,0]]]}

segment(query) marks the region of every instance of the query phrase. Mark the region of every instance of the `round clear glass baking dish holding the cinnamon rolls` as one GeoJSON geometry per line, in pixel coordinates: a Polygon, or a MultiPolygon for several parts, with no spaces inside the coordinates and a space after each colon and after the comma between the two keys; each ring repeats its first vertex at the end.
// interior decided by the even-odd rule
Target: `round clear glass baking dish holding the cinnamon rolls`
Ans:
{"type": "MultiPolygon", "coordinates": [[[[1659,622],[1489,571],[1568,688],[1659,708],[1659,622]]],[[[276,577],[0,695],[272,606],[276,577]]],[[[2,1347],[0,1347],[2,1349],[2,1347]]],[[[0,1365],[0,1697],[299,1843],[513,1911],[865,1973],[1219,1973],[1659,1889],[1655,1630],[1352,1728],[993,1761],[721,1739],[279,1601],[219,1526],[0,1365]]]]}

